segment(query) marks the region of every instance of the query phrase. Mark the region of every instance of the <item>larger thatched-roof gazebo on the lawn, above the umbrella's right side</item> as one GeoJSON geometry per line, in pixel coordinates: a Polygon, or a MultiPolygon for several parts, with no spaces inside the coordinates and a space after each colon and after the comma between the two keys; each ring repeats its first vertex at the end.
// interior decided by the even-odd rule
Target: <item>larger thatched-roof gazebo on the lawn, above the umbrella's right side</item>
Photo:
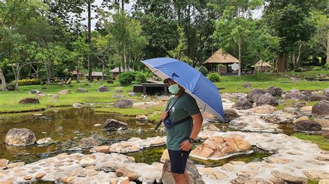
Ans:
{"type": "Polygon", "coordinates": [[[208,71],[217,71],[217,64],[226,65],[226,70],[220,71],[220,73],[228,73],[228,65],[237,63],[239,64],[239,59],[235,58],[233,55],[224,54],[223,50],[219,48],[212,56],[203,62],[203,65],[208,69],[208,71]]]}

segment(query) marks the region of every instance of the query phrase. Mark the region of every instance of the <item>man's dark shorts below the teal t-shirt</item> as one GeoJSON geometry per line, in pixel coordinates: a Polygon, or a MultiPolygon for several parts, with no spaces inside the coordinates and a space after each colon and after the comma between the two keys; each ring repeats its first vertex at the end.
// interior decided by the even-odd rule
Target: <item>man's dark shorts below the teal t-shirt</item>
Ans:
{"type": "Polygon", "coordinates": [[[190,152],[191,149],[189,151],[175,151],[168,149],[172,173],[184,174],[187,158],[189,158],[190,152]]]}

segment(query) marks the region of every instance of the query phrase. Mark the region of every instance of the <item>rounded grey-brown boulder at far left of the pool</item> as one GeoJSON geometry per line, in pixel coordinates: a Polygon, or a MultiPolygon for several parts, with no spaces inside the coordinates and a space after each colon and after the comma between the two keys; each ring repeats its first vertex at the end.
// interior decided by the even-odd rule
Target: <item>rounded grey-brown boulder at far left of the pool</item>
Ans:
{"type": "Polygon", "coordinates": [[[36,140],[35,134],[29,129],[10,129],[5,138],[8,145],[15,146],[33,145],[36,140]]]}

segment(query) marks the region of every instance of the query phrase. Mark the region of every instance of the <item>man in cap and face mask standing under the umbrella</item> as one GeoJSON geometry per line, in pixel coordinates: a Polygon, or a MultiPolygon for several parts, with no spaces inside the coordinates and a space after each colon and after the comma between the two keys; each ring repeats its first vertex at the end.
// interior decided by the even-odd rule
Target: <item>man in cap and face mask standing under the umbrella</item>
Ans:
{"type": "Polygon", "coordinates": [[[188,184],[189,176],[185,171],[187,158],[201,131],[203,117],[194,98],[186,93],[182,86],[169,78],[164,82],[169,85],[169,92],[175,97],[167,102],[167,108],[172,107],[170,111],[163,112],[160,118],[165,120],[169,115],[170,122],[180,122],[178,125],[167,129],[167,149],[171,172],[176,184],[188,184]],[[187,120],[181,122],[184,119],[187,120]]]}

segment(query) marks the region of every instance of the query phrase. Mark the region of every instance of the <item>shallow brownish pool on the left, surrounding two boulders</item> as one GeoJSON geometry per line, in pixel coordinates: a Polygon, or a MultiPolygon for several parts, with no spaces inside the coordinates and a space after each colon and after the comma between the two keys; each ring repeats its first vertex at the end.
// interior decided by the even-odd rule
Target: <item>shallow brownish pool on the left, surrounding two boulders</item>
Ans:
{"type": "MultiPolygon", "coordinates": [[[[2,114],[0,115],[0,158],[6,158],[10,162],[31,163],[63,152],[71,154],[76,151],[69,151],[70,148],[78,146],[81,138],[90,136],[99,140],[101,145],[110,145],[132,137],[165,136],[150,129],[154,126],[152,122],[141,124],[135,120],[135,117],[125,117],[116,113],[95,113],[90,107],[53,108],[43,112],[2,114]],[[33,115],[37,113],[42,116],[33,115]],[[129,129],[121,134],[102,131],[104,122],[108,119],[126,122],[129,129]],[[101,127],[94,127],[97,123],[101,124],[101,127]],[[39,147],[36,144],[27,147],[7,145],[4,140],[8,130],[12,128],[28,128],[34,132],[37,140],[51,137],[58,142],[46,147],[39,147]],[[139,128],[142,129],[142,134],[136,133],[139,128]]],[[[88,153],[88,151],[89,149],[85,149],[81,152],[88,153]]]]}

